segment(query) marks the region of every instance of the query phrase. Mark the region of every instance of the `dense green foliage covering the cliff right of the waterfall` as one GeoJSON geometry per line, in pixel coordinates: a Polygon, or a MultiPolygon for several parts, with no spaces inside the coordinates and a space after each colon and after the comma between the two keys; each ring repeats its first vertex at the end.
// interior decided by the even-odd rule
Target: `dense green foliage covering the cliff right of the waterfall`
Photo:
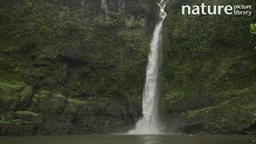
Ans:
{"type": "MultiPolygon", "coordinates": [[[[165,96],[162,102],[170,112],[198,110],[190,111],[195,115],[194,120],[200,120],[199,114],[204,114],[204,122],[214,125],[214,130],[242,131],[255,123],[256,93],[252,91],[246,95],[240,91],[254,87],[256,80],[256,37],[251,24],[256,17],[255,14],[181,14],[182,5],[201,5],[202,2],[206,5],[241,3],[256,6],[256,2],[244,0],[170,1],[163,30],[165,96]],[[241,110],[234,110],[236,105],[241,110]],[[213,107],[205,108],[208,106],[213,107]],[[251,117],[244,124],[238,121],[242,111],[251,117]]],[[[202,129],[210,131],[207,126],[202,129]]]]}

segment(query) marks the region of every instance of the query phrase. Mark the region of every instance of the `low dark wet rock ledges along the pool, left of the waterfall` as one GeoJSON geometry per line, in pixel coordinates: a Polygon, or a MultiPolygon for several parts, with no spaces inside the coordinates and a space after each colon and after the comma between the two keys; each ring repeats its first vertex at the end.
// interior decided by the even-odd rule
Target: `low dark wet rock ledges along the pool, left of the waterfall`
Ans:
{"type": "Polygon", "coordinates": [[[106,134],[128,130],[134,122],[129,109],[120,103],[86,104],[74,99],[66,102],[66,98],[49,91],[39,92],[34,99],[34,110],[40,114],[17,111],[10,119],[0,119],[0,135],[106,134]]]}

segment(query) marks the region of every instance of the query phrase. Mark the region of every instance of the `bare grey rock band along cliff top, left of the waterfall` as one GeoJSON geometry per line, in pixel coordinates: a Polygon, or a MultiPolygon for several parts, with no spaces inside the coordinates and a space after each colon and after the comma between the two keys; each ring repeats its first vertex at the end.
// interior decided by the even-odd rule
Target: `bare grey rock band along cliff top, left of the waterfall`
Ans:
{"type": "MultiPolygon", "coordinates": [[[[40,2],[34,0],[34,4],[40,2]]],[[[158,17],[154,0],[55,0],[59,6],[82,8],[87,14],[105,14],[105,18],[120,17],[126,26],[154,26],[158,17]],[[118,15],[119,14],[119,15],[118,15]]]]}

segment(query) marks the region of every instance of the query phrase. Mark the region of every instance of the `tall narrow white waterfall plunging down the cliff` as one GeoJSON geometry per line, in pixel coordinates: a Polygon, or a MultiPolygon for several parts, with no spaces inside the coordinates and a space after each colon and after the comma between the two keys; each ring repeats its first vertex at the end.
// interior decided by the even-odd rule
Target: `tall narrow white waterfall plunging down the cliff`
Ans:
{"type": "Polygon", "coordinates": [[[155,26],[153,38],[150,43],[149,63],[146,68],[146,83],[143,92],[142,114],[134,130],[128,134],[161,134],[158,124],[158,71],[159,71],[159,53],[162,39],[162,22],[166,18],[164,10],[166,4],[163,0],[158,4],[160,6],[161,20],[155,26]]]}

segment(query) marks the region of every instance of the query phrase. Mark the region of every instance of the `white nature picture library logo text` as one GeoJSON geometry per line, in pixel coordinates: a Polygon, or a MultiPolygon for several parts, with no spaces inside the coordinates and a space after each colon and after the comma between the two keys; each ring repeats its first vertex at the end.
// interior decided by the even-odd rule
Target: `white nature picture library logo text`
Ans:
{"type": "Polygon", "coordinates": [[[201,6],[182,6],[182,14],[227,14],[227,15],[248,15],[252,14],[251,5],[234,5],[234,6],[207,6],[204,3],[201,6]]]}

